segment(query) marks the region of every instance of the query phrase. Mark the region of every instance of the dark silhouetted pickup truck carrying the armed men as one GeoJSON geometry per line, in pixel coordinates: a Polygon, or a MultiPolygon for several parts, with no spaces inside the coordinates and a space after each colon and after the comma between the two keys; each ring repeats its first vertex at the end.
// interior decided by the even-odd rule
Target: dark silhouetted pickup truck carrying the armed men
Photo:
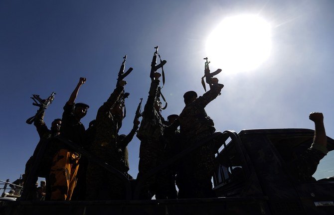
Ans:
{"type": "MultiPolygon", "coordinates": [[[[290,174],[284,159],[287,153],[298,156],[307,150],[313,137],[314,130],[300,128],[216,132],[142,179],[214,139],[217,166],[212,179],[216,198],[139,200],[142,182],[132,180],[125,182],[129,184],[127,200],[54,202],[19,199],[6,202],[0,208],[0,215],[334,215],[333,177],[299,182],[290,174]]],[[[328,137],[327,147],[329,151],[334,149],[332,138],[328,137]]]]}

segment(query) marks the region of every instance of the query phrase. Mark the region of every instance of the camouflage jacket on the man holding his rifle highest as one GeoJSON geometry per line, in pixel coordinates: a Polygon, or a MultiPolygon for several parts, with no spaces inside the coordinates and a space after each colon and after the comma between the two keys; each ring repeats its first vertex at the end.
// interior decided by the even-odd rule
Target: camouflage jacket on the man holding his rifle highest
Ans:
{"type": "Polygon", "coordinates": [[[159,80],[153,80],[151,82],[149,98],[144,108],[143,120],[137,132],[137,137],[140,140],[143,140],[144,138],[159,140],[164,134],[165,119],[155,108],[159,83],[159,80]]]}

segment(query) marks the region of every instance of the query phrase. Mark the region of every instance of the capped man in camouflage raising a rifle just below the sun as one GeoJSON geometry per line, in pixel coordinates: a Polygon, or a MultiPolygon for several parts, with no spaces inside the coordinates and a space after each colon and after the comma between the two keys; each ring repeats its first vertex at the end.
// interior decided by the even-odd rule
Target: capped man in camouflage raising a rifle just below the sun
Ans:
{"type": "MultiPolygon", "coordinates": [[[[224,85],[218,84],[217,78],[211,78],[211,83],[211,89],[199,98],[194,91],[188,91],[183,95],[185,107],[178,119],[180,133],[184,137],[184,148],[204,140],[215,131],[213,120],[206,114],[204,108],[219,95],[224,85]]],[[[211,183],[214,153],[211,142],[201,146],[183,160],[176,178],[179,198],[214,196],[211,183]]]]}

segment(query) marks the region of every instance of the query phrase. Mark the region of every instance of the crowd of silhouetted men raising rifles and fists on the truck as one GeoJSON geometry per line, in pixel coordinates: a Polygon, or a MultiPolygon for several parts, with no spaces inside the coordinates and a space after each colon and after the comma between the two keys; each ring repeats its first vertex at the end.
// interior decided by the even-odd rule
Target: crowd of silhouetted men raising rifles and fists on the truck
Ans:
{"type": "MultiPolygon", "coordinates": [[[[62,118],[57,118],[47,128],[42,114],[36,115],[34,125],[40,137],[33,155],[26,164],[25,174],[29,175],[33,163],[38,163],[36,174],[46,180],[45,200],[122,200],[125,199],[125,185],[113,172],[70,147],[73,142],[97,159],[109,164],[129,180],[129,154],[127,146],[137,132],[140,144],[139,173],[137,181],[143,181],[140,199],[176,199],[214,197],[211,177],[215,167],[214,142],[199,147],[177,164],[168,166],[158,173],[145,177],[152,169],[163,164],[182,150],[204,140],[215,132],[213,120],[204,108],[221,92],[223,85],[217,78],[211,78],[210,90],[198,97],[189,91],[183,96],[185,107],[182,112],[171,114],[167,121],[161,114],[162,103],[159,96],[160,73],[152,78],[147,103],[142,113],[142,121],[134,120],[128,135],[119,134],[124,118],[124,92],[126,82],[118,80],[113,93],[98,109],[96,119],[89,123],[87,130],[80,120],[85,117],[89,106],[75,103],[79,89],[86,82],[80,78],[76,88],[64,106],[62,118]],[[178,127],[180,127],[178,129],[178,127]],[[41,161],[37,154],[44,147],[41,161]],[[178,187],[176,191],[175,184],[178,187]]],[[[319,154],[319,160],[326,154],[326,137],[321,113],[311,113],[310,119],[316,123],[317,138],[312,150],[319,154]],[[324,137],[325,135],[325,137],[324,137]],[[319,140],[320,139],[320,140],[319,140]]],[[[137,156],[137,155],[132,155],[137,156]]],[[[315,157],[314,155],[312,155],[315,157]]],[[[307,157],[309,158],[309,157],[307,157]]],[[[317,163],[318,160],[318,163],[317,163]]],[[[310,164],[312,165],[312,164],[310,164]]],[[[30,188],[34,193],[35,187],[30,188]]],[[[29,199],[35,199],[30,195],[29,199]]]]}

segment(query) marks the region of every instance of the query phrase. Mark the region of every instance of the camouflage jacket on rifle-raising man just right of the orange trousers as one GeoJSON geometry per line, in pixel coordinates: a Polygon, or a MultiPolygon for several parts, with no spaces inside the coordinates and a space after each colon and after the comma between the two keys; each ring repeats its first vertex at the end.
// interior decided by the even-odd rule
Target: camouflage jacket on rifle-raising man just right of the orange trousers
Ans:
{"type": "Polygon", "coordinates": [[[124,87],[118,86],[114,92],[110,95],[107,102],[105,102],[97,111],[96,115],[96,136],[94,145],[105,146],[110,143],[115,144],[118,132],[117,119],[111,114],[111,108],[119,100],[124,87]]]}

